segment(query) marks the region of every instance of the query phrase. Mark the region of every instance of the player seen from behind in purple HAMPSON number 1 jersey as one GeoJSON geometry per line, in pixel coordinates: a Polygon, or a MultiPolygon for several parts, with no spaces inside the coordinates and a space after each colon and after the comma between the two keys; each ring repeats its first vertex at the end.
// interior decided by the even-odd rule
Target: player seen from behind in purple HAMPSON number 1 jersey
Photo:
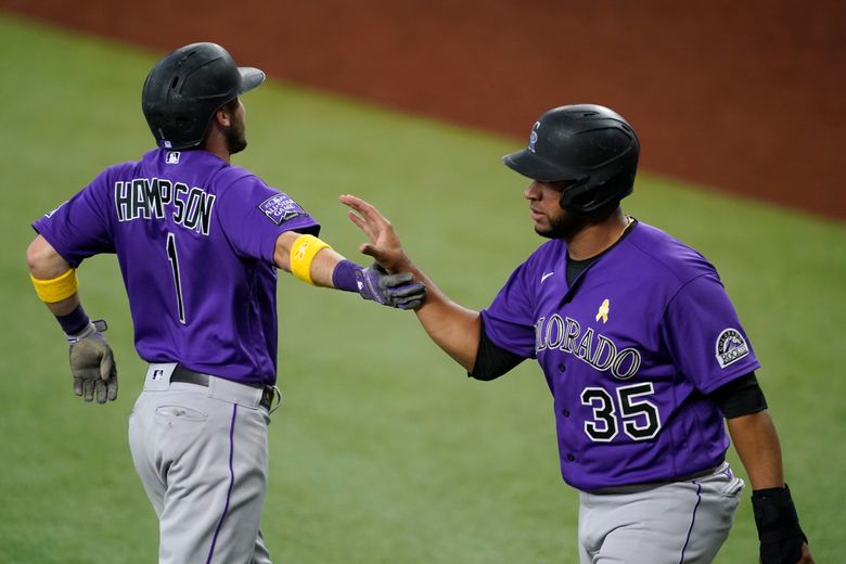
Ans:
{"type": "Polygon", "coordinates": [[[278,405],[277,269],[402,309],[425,293],[411,274],[345,260],[291,196],[230,164],[246,146],[239,97],[264,79],[214,43],[168,54],[142,93],[158,149],[106,168],[33,223],[33,282],[67,335],[86,401],[114,400],[117,375],[75,269],[117,255],[150,363],[129,444],[159,520],[162,563],[270,562],[259,521],[278,405]]]}

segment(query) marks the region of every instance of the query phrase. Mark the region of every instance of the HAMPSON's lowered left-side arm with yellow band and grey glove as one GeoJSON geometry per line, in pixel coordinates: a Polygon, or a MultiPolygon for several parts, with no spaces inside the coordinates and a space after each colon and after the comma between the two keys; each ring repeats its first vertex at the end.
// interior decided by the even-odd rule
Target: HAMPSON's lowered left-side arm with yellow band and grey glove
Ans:
{"type": "Polygon", "coordinates": [[[98,403],[117,399],[117,369],[102,320],[91,321],[79,303],[76,272],[41,235],[26,249],[26,264],[36,293],[65,332],[70,346],[74,394],[98,403]]]}

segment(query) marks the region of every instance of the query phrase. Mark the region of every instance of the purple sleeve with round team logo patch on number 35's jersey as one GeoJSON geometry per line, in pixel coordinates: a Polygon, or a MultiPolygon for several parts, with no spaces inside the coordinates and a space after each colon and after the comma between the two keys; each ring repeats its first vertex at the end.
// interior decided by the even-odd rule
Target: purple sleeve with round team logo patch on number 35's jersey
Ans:
{"type": "Polygon", "coordinates": [[[661,334],[675,364],[703,394],[760,367],[716,273],[681,287],[667,305],[661,334]]]}

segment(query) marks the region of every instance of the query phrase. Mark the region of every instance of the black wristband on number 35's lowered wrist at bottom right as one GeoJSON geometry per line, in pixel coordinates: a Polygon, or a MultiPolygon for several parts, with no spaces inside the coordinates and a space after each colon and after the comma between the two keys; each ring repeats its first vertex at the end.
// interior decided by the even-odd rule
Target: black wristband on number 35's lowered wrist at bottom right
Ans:
{"type": "Polygon", "coordinates": [[[753,491],[752,510],[758,528],[761,563],[798,562],[802,544],[808,538],[799,527],[799,517],[787,485],[753,491]]]}

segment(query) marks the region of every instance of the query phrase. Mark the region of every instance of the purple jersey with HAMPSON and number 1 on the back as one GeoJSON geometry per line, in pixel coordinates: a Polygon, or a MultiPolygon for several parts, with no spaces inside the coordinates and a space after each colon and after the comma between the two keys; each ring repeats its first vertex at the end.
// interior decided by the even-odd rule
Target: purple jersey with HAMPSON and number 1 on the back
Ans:
{"type": "Polygon", "coordinates": [[[155,150],[33,227],[74,267],[117,254],[142,359],[275,383],[275,241],[320,230],[284,193],[211,153],[155,150]]]}

